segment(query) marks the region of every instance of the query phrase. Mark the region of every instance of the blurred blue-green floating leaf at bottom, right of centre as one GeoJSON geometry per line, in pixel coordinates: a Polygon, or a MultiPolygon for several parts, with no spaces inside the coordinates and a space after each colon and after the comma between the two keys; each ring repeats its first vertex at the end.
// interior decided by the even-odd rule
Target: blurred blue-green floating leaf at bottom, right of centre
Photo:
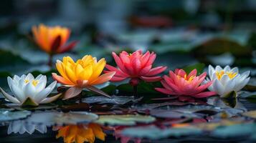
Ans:
{"type": "Polygon", "coordinates": [[[202,135],[201,129],[196,128],[170,128],[159,129],[158,127],[151,125],[146,127],[129,127],[123,129],[121,134],[127,137],[138,137],[146,139],[162,139],[166,137],[183,137],[188,135],[202,135]]]}

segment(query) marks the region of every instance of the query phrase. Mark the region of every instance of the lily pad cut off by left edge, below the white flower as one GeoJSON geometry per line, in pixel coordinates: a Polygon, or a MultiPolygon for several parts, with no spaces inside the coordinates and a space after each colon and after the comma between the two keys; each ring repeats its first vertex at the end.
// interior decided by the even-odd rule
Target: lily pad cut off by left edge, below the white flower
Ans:
{"type": "Polygon", "coordinates": [[[0,122],[9,122],[16,119],[27,118],[31,112],[29,111],[11,111],[11,109],[0,109],[0,122]]]}

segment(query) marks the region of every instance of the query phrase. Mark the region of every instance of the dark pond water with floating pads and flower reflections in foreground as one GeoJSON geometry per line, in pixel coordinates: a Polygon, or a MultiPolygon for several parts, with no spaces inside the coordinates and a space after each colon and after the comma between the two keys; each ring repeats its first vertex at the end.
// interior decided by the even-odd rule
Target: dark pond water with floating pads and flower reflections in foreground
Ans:
{"type": "Polygon", "coordinates": [[[4,99],[1,103],[0,142],[255,142],[256,139],[253,96],[151,103],[123,96],[111,100],[87,97],[72,104],[57,102],[36,108],[16,107],[4,99]]]}

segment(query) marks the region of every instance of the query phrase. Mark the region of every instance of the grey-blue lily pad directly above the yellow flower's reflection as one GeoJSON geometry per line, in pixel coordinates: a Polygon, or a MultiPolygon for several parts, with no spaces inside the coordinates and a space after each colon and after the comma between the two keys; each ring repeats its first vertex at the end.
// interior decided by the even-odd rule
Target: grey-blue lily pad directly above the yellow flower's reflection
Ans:
{"type": "Polygon", "coordinates": [[[98,115],[90,112],[34,112],[31,117],[27,119],[27,122],[51,126],[54,124],[86,124],[96,119],[98,119],[98,115]]]}

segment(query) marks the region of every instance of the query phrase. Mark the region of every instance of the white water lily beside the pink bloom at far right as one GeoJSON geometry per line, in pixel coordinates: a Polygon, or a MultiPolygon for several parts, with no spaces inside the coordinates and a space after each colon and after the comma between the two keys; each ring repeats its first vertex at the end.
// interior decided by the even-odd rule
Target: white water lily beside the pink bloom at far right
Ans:
{"type": "Polygon", "coordinates": [[[240,91],[250,80],[250,71],[245,71],[239,74],[237,67],[230,68],[221,66],[215,68],[209,65],[209,78],[205,82],[213,81],[213,84],[208,87],[210,91],[216,92],[220,97],[227,97],[231,92],[240,91]]]}

